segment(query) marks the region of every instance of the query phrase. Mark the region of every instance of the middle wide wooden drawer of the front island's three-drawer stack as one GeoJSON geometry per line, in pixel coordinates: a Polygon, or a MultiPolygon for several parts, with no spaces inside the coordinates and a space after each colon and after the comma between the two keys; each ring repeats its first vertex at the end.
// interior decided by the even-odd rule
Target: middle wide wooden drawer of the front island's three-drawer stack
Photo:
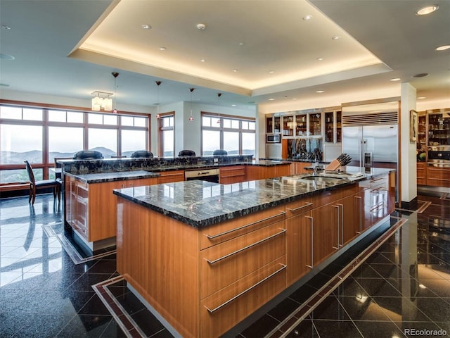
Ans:
{"type": "Polygon", "coordinates": [[[284,220],[200,251],[200,299],[286,253],[284,220]]]}

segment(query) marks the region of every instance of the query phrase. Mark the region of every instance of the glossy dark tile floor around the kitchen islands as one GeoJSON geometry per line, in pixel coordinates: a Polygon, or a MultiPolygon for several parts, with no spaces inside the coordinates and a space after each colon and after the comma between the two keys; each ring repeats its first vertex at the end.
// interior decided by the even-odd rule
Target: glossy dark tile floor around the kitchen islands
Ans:
{"type": "MultiPolygon", "coordinates": [[[[450,337],[450,199],[419,200],[430,202],[423,212],[397,211],[392,224],[408,221],[349,250],[237,337],[450,337]],[[361,256],[366,247],[374,252],[361,256]]],[[[115,253],[77,261],[61,222],[49,194],[34,206],[0,199],[0,337],[172,337],[125,287],[115,253]]]]}

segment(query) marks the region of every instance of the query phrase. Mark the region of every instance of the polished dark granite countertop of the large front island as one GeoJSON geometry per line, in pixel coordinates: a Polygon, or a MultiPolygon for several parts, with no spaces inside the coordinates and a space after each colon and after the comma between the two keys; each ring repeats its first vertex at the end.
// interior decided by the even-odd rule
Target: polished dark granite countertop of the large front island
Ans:
{"type": "MultiPolygon", "coordinates": [[[[391,171],[392,169],[372,168],[371,173],[333,182],[305,180],[303,177],[308,174],[304,174],[238,184],[193,180],[115,189],[113,192],[153,211],[201,228],[391,171]]],[[[359,173],[359,168],[347,167],[347,173],[359,173]]]]}

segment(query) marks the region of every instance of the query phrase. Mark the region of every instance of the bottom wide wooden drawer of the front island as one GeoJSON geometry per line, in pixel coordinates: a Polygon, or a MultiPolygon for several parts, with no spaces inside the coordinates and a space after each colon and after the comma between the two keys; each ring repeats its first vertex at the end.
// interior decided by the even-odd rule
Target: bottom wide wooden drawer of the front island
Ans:
{"type": "Polygon", "coordinates": [[[286,287],[285,257],[200,302],[200,337],[219,337],[286,287]]]}

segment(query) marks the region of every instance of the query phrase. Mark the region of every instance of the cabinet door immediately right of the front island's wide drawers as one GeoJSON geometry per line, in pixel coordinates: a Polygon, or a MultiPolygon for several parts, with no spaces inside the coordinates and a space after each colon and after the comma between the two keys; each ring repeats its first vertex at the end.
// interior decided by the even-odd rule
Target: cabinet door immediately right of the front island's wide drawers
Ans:
{"type": "Polygon", "coordinates": [[[314,267],[312,252],[314,220],[311,212],[300,213],[286,220],[287,283],[293,284],[314,267]]]}

